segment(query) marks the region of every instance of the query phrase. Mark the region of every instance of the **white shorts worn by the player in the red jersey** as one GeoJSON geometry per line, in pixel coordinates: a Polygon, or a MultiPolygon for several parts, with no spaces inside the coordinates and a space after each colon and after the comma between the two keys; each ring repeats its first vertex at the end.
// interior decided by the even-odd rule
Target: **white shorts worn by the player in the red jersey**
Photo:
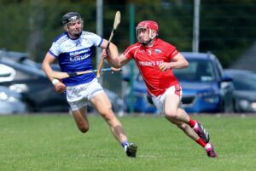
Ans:
{"type": "Polygon", "coordinates": [[[182,96],[183,96],[183,90],[179,84],[176,84],[176,85],[171,86],[170,88],[167,88],[167,90],[164,94],[152,97],[154,105],[158,109],[160,114],[165,114],[166,95],[169,95],[169,94],[177,94],[181,100],[182,96]]]}

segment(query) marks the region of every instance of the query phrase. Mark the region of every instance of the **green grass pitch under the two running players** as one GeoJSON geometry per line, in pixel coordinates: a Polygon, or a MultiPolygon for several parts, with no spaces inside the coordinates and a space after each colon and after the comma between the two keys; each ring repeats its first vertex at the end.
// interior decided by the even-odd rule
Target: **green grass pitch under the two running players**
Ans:
{"type": "Polygon", "coordinates": [[[125,156],[102,117],[79,133],[70,115],[0,117],[1,171],[255,170],[256,117],[195,116],[211,134],[218,159],[207,157],[164,117],[120,117],[137,158],[125,156]]]}

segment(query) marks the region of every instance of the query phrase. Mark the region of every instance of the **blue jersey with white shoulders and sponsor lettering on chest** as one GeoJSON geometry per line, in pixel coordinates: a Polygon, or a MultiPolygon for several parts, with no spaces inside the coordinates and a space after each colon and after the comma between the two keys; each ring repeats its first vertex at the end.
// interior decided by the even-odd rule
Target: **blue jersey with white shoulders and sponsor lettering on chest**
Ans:
{"type": "MultiPolygon", "coordinates": [[[[61,66],[61,71],[75,72],[93,70],[92,50],[93,47],[100,47],[103,38],[95,33],[83,31],[78,39],[71,39],[67,32],[61,34],[52,43],[49,53],[54,55],[61,66]]],[[[63,79],[67,86],[89,83],[96,77],[95,73],[84,74],[78,77],[63,79]]]]}

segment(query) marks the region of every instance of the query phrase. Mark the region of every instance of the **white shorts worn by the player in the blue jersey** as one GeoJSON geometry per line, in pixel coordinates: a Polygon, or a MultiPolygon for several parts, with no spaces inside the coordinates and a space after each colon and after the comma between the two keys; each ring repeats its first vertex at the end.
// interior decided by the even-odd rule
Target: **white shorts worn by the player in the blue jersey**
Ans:
{"type": "Polygon", "coordinates": [[[78,111],[87,105],[88,100],[102,92],[103,88],[96,78],[90,83],[67,86],[67,103],[70,105],[71,111],[78,111]]]}

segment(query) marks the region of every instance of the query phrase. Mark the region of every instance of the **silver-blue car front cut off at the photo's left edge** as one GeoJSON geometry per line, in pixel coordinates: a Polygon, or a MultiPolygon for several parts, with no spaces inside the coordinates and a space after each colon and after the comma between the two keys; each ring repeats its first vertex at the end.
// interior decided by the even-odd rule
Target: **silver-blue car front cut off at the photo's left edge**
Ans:
{"type": "Polygon", "coordinates": [[[27,110],[21,94],[0,86],[0,115],[26,114],[27,110]]]}

